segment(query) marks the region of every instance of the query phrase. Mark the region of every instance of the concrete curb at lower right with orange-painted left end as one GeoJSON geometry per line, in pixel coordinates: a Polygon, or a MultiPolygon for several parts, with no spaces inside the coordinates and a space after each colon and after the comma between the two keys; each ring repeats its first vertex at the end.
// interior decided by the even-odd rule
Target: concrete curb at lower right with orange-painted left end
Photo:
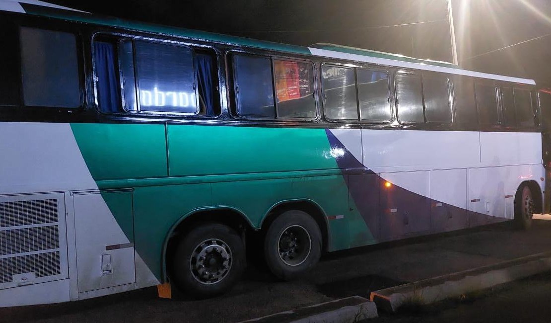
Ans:
{"type": "Polygon", "coordinates": [[[377,308],[394,312],[404,303],[431,304],[551,270],[551,252],[424,279],[371,292],[377,308]]]}

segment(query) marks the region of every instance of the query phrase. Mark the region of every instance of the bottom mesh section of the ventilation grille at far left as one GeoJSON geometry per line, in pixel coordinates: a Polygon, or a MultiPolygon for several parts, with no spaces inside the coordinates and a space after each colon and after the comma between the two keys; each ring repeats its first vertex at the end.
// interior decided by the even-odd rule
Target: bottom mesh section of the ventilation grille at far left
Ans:
{"type": "Polygon", "coordinates": [[[60,252],[0,259],[0,284],[12,282],[14,274],[28,272],[34,272],[36,278],[60,274],[60,252]]]}

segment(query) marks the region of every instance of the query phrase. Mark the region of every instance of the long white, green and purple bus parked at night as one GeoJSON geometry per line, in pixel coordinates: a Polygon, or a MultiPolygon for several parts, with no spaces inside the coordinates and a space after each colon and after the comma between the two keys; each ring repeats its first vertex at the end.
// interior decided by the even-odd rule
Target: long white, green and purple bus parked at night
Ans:
{"type": "Polygon", "coordinates": [[[247,257],[288,280],[548,211],[531,79],[33,0],[0,29],[0,306],[212,297],[247,257]]]}

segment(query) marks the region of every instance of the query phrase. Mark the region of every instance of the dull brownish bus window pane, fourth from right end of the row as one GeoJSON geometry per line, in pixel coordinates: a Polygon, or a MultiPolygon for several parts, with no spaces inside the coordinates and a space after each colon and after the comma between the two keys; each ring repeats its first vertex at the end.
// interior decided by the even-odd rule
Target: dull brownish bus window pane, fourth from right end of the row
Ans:
{"type": "Polygon", "coordinates": [[[474,101],[474,83],[472,80],[455,78],[453,85],[453,111],[457,123],[476,125],[478,123],[477,105],[474,101]]]}

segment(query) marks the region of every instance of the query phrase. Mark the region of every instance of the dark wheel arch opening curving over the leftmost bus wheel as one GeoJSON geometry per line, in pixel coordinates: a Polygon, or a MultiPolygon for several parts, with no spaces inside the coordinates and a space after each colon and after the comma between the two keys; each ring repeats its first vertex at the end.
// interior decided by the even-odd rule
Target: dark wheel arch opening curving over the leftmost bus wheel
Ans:
{"type": "Polygon", "coordinates": [[[244,212],[234,207],[214,206],[193,209],[176,220],[165,236],[161,254],[161,282],[168,281],[167,262],[169,261],[168,254],[173,238],[185,234],[195,225],[208,222],[228,225],[240,234],[246,229],[257,229],[251,220],[245,216],[244,212]]]}

